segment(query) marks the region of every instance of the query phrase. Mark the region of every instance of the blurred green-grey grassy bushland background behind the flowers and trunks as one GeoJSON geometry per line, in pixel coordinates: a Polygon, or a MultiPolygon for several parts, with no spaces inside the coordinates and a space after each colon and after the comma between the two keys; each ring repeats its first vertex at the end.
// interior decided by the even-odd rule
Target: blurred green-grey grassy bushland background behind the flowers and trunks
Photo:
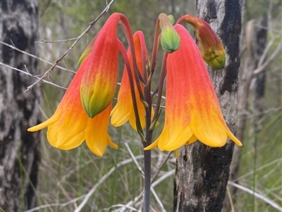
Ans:
{"type": "MultiPolygon", "coordinates": [[[[108,1],[109,2],[109,1],[108,1]]],[[[105,0],[39,0],[39,15],[41,27],[41,39],[47,41],[59,41],[78,37],[86,28],[87,24],[97,18],[106,7],[105,0]]],[[[190,13],[195,15],[195,1],[192,0],[116,0],[92,30],[82,37],[72,51],[61,61],[60,66],[69,70],[77,69],[78,58],[84,51],[88,42],[104,24],[105,20],[114,12],[125,14],[133,28],[142,30],[145,34],[147,49],[152,51],[154,25],[159,13],[173,14],[178,20],[180,16],[190,13]]],[[[258,20],[262,15],[269,15],[269,29],[267,39],[277,37],[269,49],[268,56],[276,49],[281,40],[281,1],[246,0],[245,23],[248,20],[258,20]],[[273,6],[269,8],[269,6],[273,6]],[[270,11],[270,12],[269,12],[270,11]],[[271,15],[269,15],[269,13],[271,15]]],[[[186,27],[188,27],[186,25],[186,27]]],[[[192,27],[191,27],[192,28],[192,27]]],[[[191,31],[191,28],[188,29],[191,31]]],[[[192,31],[191,31],[192,32],[192,31]]],[[[244,36],[244,35],[243,35],[244,36]]],[[[118,37],[124,42],[120,33],[118,37]]],[[[65,42],[42,42],[38,45],[40,57],[47,61],[55,61],[70,46],[73,40],[65,42]]],[[[242,62],[244,61],[244,38],[243,38],[242,62]]],[[[160,52],[161,53],[161,52],[160,52]]],[[[240,185],[254,189],[266,198],[275,201],[282,206],[282,111],[281,111],[281,54],[266,68],[266,83],[264,87],[264,108],[262,116],[259,116],[259,129],[255,134],[250,134],[252,117],[254,114],[248,111],[247,126],[241,153],[239,180],[240,185]],[[250,116],[249,116],[250,115],[250,116]],[[250,120],[250,121],[249,121],[250,120]]],[[[161,54],[159,54],[161,61],[161,54]]],[[[41,72],[49,68],[47,63],[40,63],[41,72]]],[[[120,67],[120,75],[123,66],[120,67]]],[[[156,68],[154,80],[158,79],[159,66],[156,68]]],[[[73,73],[56,68],[50,75],[49,80],[62,87],[68,87],[73,78],[73,73]]],[[[34,88],[38,89],[38,88],[34,88]]],[[[42,113],[44,120],[50,117],[56,110],[65,89],[53,85],[44,84],[41,87],[44,98],[42,99],[42,113]]],[[[250,87],[252,91],[252,87],[250,87]]],[[[254,94],[250,94],[250,104],[254,94]]],[[[161,117],[163,119],[163,117],[161,117]]],[[[71,130],[71,129],[70,129],[71,130]]],[[[162,125],[157,127],[154,136],[159,135],[162,125]]],[[[90,201],[82,211],[114,211],[119,207],[117,204],[127,204],[135,199],[142,191],[142,175],[137,170],[135,163],[130,162],[125,166],[116,168],[116,164],[130,159],[130,151],[135,157],[142,156],[142,144],[136,132],[129,125],[123,127],[110,127],[109,134],[113,141],[119,145],[116,151],[109,147],[103,158],[92,154],[83,144],[71,151],[61,151],[52,147],[46,139],[46,133],[42,133],[42,163],[39,173],[39,187],[37,196],[39,199],[39,211],[74,211],[82,202],[85,194],[99,185],[90,201]],[[129,147],[125,146],[128,143],[129,147]],[[128,150],[130,148],[130,151],[128,150]],[[99,182],[106,173],[116,168],[104,182],[99,182]],[[78,198],[78,199],[75,199],[78,198]],[[75,200],[75,201],[73,201],[75,200]],[[108,209],[106,209],[108,208],[108,209]]],[[[162,161],[168,156],[167,152],[152,151],[152,173],[154,174],[162,161]]],[[[142,159],[138,162],[142,167],[142,159]]],[[[176,158],[174,154],[168,159],[166,165],[161,168],[157,177],[166,176],[166,173],[175,169],[176,158]]],[[[166,211],[173,209],[173,175],[161,180],[155,187],[155,191],[166,211]]],[[[252,194],[238,190],[238,201],[234,204],[235,211],[276,211],[274,208],[255,199],[252,194]]],[[[139,208],[140,202],[134,208],[139,208]]],[[[124,211],[130,211],[126,209],[124,211]]],[[[152,211],[161,211],[161,206],[152,196],[152,211]]]]}

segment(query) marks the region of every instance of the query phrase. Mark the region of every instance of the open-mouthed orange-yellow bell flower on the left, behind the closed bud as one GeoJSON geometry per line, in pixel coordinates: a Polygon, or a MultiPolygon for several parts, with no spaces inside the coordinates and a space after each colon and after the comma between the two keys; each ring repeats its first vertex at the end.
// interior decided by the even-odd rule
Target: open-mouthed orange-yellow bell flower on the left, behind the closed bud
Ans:
{"type": "Polygon", "coordinates": [[[27,131],[35,132],[48,127],[47,139],[52,146],[68,150],[85,141],[94,154],[103,156],[108,144],[115,149],[118,146],[107,133],[111,104],[94,118],[89,118],[82,108],[80,85],[85,69],[89,67],[90,56],[82,62],[54,115],[27,131]]]}

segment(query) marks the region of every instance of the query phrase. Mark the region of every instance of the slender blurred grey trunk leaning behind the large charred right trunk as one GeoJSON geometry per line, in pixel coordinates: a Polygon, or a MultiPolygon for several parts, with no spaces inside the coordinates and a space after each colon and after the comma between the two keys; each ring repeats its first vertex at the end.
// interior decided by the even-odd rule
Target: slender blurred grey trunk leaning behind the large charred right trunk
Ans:
{"type": "MultiPolygon", "coordinates": [[[[238,130],[237,138],[241,142],[244,142],[244,133],[247,121],[250,122],[250,136],[249,142],[252,144],[255,142],[251,138],[254,138],[255,131],[259,127],[258,113],[262,113],[263,110],[263,97],[264,97],[264,83],[265,83],[265,71],[257,76],[255,82],[255,95],[253,105],[249,106],[250,85],[253,80],[253,72],[258,67],[259,58],[262,56],[266,46],[266,34],[267,34],[267,18],[262,17],[259,21],[250,20],[247,22],[245,30],[245,42],[246,52],[244,55],[243,68],[240,71],[240,86],[238,90],[238,130]],[[257,27],[259,26],[259,27],[257,27]],[[250,115],[252,117],[250,117],[250,115]]],[[[237,182],[238,170],[240,166],[240,147],[235,146],[233,161],[231,163],[229,180],[237,182]]],[[[230,187],[230,192],[233,197],[233,202],[236,201],[235,192],[236,187],[230,187]]],[[[224,212],[231,211],[231,205],[226,198],[224,203],[224,212]]]]}

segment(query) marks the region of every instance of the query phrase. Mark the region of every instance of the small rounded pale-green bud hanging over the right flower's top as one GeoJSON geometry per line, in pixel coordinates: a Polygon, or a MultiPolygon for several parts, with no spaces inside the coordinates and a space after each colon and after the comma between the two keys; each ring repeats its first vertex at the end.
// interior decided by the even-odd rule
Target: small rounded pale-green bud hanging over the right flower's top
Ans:
{"type": "Polygon", "coordinates": [[[161,48],[168,53],[176,51],[180,46],[180,37],[174,28],[167,28],[161,32],[161,48]]]}

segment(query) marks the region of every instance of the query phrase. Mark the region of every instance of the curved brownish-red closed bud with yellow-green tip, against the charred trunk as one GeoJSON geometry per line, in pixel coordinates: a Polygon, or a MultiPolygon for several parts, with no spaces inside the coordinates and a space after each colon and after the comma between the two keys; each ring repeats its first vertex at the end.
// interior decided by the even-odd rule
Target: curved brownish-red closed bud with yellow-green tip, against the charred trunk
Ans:
{"type": "Polygon", "coordinates": [[[189,23],[196,31],[204,61],[216,70],[224,68],[225,50],[212,27],[193,15],[184,15],[178,20],[178,23],[181,21],[189,23]]]}

